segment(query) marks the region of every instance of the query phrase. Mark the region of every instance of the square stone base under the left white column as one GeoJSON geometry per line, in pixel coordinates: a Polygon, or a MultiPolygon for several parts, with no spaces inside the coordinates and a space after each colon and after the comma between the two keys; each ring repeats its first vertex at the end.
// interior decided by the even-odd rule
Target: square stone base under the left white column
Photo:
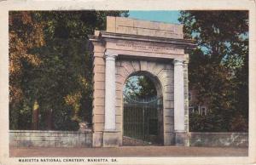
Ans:
{"type": "Polygon", "coordinates": [[[104,131],[103,132],[103,147],[118,147],[119,134],[117,131],[104,131]]]}

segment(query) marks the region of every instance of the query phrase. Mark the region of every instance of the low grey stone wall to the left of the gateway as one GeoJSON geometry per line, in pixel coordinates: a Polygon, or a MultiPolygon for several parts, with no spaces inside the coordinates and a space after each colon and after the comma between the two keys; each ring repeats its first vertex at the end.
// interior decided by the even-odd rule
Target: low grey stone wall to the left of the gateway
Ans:
{"type": "Polygon", "coordinates": [[[75,131],[11,130],[9,144],[15,147],[91,147],[92,134],[75,131]]]}

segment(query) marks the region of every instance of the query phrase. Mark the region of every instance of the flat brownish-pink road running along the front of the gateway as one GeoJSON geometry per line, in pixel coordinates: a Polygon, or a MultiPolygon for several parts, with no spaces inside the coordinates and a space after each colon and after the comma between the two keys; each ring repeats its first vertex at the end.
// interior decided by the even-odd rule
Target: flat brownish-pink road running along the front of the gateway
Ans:
{"type": "Polygon", "coordinates": [[[119,148],[10,148],[10,156],[247,156],[247,148],[122,146],[119,148]]]}

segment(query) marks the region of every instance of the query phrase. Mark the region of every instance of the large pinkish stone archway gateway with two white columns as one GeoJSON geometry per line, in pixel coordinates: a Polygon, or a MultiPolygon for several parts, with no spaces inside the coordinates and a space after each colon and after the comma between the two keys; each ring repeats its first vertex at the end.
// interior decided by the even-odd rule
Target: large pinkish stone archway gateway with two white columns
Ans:
{"type": "Polygon", "coordinates": [[[107,30],[90,36],[94,56],[93,146],[122,145],[123,88],[138,71],[159,80],[163,144],[189,145],[188,54],[183,26],[107,17],[107,30]]]}

